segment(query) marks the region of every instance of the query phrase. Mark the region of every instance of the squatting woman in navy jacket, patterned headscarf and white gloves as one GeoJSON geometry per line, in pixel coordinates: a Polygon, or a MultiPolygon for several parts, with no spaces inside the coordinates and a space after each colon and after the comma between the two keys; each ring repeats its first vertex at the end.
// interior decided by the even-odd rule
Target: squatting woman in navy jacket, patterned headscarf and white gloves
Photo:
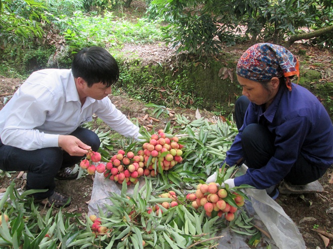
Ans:
{"type": "MultiPolygon", "coordinates": [[[[275,198],[282,179],[305,185],[320,178],[333,163],[333,126],[319,100],[291,82],[299,77],[297,58],[283,46],[258,43],[240,57],[236,74],[243,88],[235,105],[239,132],[224,162],[244,161],[248,169],[224,183],[249,184],[275,198]]],[[[216,173],[207,182],[215,179],[216,173]]]]}

